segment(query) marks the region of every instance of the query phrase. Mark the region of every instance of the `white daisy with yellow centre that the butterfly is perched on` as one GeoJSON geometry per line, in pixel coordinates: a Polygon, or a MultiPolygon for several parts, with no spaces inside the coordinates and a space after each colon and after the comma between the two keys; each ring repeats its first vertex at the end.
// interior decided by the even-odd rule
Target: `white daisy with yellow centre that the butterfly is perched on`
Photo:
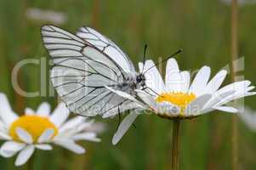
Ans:
{"type": "MultiPolygon", "coordinates": [[[[157,71],[152,60],[147,60],[144,65],[146,90],[137,90],[139,98],[157,116],[169,119],[193,118],[213,110],[235,113],[237,109],[226,105],[232,100],[240,99],[255,94],[250,92],[254,87],[251,82],[234,82],[220,88],[227,75],[227,71],[219,71],[211,80],[211,69],[203,66],[191,82],[189,71],[179,71],[175,59],[168,59],[165,82],[157,71]],[[150,70],[148,70],[151,68],[150,70]],[[148,70],[148,71],[147,71],[148,70]]],[[[139,63],[139,70],[143,72],[143,64],[139,63]]],[[[112,90],[115,92],[115,90],[112,90]]],[[[116,91],[117,94],[127,98],[128,94],[116,91]]],[[[128,99],[132,99],[131,96],[128,99]]],[[[135,102],[138,100],[134,100],[135,102]]],[[[139,102],[141,105],[141,102],[139,102]]],[[[145,107],[145,106],[144,106],[145,107]]],[[[127,132],[138,114],[129,114],[118,127],[113,138],[113,144],[127,132]]]]}

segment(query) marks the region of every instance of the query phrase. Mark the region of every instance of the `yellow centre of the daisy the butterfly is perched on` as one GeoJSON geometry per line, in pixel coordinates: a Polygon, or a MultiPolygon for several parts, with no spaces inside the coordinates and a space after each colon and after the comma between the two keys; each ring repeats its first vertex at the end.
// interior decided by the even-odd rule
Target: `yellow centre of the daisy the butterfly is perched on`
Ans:
{"type": "Polygon", "coordinates": [[[193,93],[181,93],[181,92],[169,92],[162,93],[156,98],[156,102],[169,102],[171,104],[177,105],[180,107],[180,114],[182,115],[185,111],[185,107],[196,99],[196,95],[193,93]]]}

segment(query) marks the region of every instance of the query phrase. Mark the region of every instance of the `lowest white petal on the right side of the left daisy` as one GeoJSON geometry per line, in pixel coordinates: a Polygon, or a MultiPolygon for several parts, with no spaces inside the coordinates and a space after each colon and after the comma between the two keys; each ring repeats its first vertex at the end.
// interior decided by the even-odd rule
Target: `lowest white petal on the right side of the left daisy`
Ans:
{"type": "Polygon", "coordinates": [[[55,141],[54,143],[64,147],[67,150],[71,150],[77,154],[83,154],[86,151],[84,148],[82,148],[82,146],[76,144],[74,141],[71,140],[59,140],[55,141]]]}

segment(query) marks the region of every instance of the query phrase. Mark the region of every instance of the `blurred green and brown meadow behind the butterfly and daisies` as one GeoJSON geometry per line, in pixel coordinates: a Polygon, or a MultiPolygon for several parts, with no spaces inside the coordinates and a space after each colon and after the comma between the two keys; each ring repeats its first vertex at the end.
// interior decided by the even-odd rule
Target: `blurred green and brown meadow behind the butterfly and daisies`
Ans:
{"type": "MultiPolygon", "coordinates": [[[[0,1],[0,92],[8,95],[14,111],[23,114],[25,107],[37,108],[42,101],[56,105],[56,98],[24,98],[15,94],[11,72],[22,59],[48,59],[41,41],[40,28],[47,21],[30,20],[28,8],[63,12],[67,20],[59,25],[75,32],[80,26],[92,26],[128,54],[134,64],[143,59],[145,43],[148,58],[184,52],[176,57],[181,69],[195,71],[209,65],[213,74],[230,64],[230,6],[220,1],[205,0],[1,0],[0,1]]],[[[239,7],[239,55],[245,56],[244,75],[256,82],[256,4],[239,7]]],[[[137,66],[137,65],[136,65],[137,66]]],[[[164,66],[162,67],[164,72],[164,66]]],[[[20,86],[26,91],[41,88],[39,65],[26,65],[20,70],[20,86]]],[[[44,81],[45,82],[45,81],[44,81]]],[[[230,82],[230,75],[225,83],[230,82]]],[[[48,78],[46,79],[48,84],[48,78]]],[[[47,89],[48,94],[48,89],[47,89]]],[[[245,104],[256,110],[256,97],[245,104]]],[[[0,104],[1,105],[1,104],[0,104]]],[[[100,134],[100,144],[83,142],[87,153],[82,156],[54,147],[54,151],[37,150],[36,169],[169,169],[172,122],[157,116],[139,116],[122,141],[111,145],[118,119],[103,120],[107,125],[100,134]]],[[[213,112],[182,124],[181,169],[230,169],[230,114],[213,112]]],[[[239,167],[256,167],[256,133],[239,122],[239,167]]],[[[0,157],[1,169],[14,167],[14,158],[0,157]]]]}

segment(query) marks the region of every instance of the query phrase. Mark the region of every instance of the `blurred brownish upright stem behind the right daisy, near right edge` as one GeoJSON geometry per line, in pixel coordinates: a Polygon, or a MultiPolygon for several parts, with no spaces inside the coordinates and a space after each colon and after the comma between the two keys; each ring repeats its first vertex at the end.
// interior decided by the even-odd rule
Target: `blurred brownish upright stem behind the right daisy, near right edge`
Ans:
{"type": "MultiPolygon", "coordinates": [[[[231,79],[232,82],[236,81],[236,62],[234,62],[238,57],[238,41],[237,41],[237,20],[238,20],[238,5],[237,0],[231,1],[231,79]]],[[[237,169],[237,117],[236,115],[231,118],[231,154],[232,154],[232,170],[237,169]]]]}

